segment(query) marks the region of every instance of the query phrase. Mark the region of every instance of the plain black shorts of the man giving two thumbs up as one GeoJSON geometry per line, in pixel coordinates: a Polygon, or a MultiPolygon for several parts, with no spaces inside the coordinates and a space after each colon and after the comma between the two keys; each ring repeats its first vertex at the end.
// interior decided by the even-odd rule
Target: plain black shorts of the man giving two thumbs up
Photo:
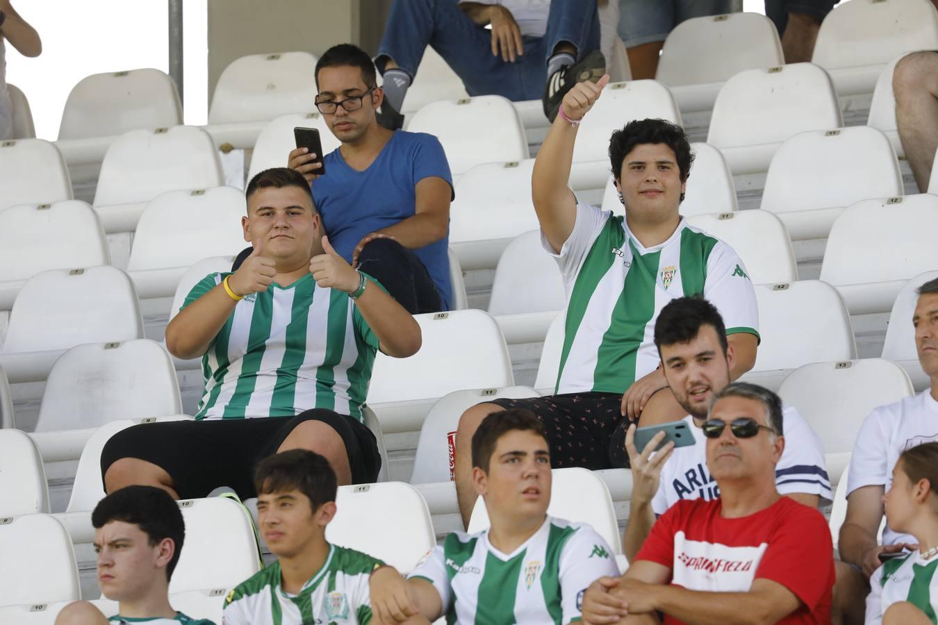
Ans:
{"type": "Polygon", "coordinates": [[[327,409],[307,410],[295,417],[133,425],[104,445],[101,479],[114,461],[140,458],[170,474],[180,499],[202,498],[219,486],[233,488],[241,499],[257,497],[257,463],[276,454],[290,432],[305,421],[321,421],[339,434],[353,484],[377,479],[381,454],[371,430],[352,417],[327,409]]]}

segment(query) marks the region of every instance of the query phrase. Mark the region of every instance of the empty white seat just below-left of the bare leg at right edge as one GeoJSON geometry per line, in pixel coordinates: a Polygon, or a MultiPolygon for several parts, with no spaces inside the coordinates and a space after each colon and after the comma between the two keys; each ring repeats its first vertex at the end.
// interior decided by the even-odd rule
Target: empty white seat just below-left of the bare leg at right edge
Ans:
{"type": "Polygon", "coordinates": [[[823,239],[845,206],[901,194],[899,161],[881,131],[811,130],[772,157],[760,208],[778,214],[793,240],[823,239]]]}

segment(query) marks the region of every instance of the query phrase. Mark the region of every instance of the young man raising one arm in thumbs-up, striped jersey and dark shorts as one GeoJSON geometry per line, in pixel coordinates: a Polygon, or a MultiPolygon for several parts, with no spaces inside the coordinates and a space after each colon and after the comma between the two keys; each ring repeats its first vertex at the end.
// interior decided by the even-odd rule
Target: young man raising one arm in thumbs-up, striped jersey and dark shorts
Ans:
{"type": "Polygon", "coordinates": [[[547,429],[553,466],[586,469],[622,466],[624,437],[611,447],[613,435],[640,415],[655,424],[687,414],[667,388],[652,341],[658,311],[674,298],[702,294],[719,308],[735,354],[731,379],[755,364],[759,313],[742,260],[678,212],[693,160],[681,128],[645,119],[613,132],[610,164],[625,217],[578,201],[567,188],[577,128],[608,81],[578,82],[564,97],[531,178],[541,243],[567,288],[555,394],[495,400],[463,413],[455,477],[464,522],[476,499],[469,441],[493,411],[534,410],[547,429]]]}

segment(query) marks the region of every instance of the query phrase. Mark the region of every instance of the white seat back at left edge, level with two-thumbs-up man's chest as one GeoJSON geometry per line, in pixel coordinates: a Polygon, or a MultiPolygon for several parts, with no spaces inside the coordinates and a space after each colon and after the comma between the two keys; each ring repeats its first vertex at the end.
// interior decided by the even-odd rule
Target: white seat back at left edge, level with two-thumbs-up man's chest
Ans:
{"type": "Polygon", "coordinates": [[[143,337],[144,320],[127,274],[110,266],[55,269],[29,278],[20,290],[0,353],[143,337]]]}

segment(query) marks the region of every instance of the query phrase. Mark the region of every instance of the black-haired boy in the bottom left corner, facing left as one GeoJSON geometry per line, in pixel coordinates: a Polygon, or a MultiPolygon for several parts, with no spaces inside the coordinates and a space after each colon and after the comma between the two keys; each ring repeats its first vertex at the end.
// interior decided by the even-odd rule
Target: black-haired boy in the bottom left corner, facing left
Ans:
{"type": "Polygon", "coordinates": [[[118,604],[105,618],[94,604],[69,603],[55,625],[213,625],[174,610],[170,578],[182,554],[186,526],[166,491],[128,486],[98,501],[91,513],[98,554],[98,586],[118,604]]]}

